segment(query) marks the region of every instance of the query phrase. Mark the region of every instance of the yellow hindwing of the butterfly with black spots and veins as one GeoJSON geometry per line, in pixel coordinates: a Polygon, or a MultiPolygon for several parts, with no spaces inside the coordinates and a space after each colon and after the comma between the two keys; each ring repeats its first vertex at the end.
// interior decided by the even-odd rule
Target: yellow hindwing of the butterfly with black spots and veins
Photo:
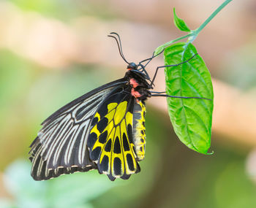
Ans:
{"type": "Polygon", "coordinates": [[[137,105],[131,88],[117,88],[97,109],[88,138],[91,161],[110,180],[128,179],[140,172],[133,138],[133,113],[137,105]]]}

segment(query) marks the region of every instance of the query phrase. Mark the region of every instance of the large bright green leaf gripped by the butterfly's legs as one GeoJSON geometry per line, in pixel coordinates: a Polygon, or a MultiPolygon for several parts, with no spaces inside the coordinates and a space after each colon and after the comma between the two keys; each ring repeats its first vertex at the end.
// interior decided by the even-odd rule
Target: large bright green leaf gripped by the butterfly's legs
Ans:
{"type": "MultiPolygon", "coordinates": [[[[197,53],[191,43],[179,42],[165,49],[165,65],[189,60],[197,53]]],[[[211,74],[200,55],[187,63],[165,69],[166,93],[170,96],[211,99],[167,98],[170,120],[178,138],[187,147],[207,154],[211,146],[211,121],[214,92],[211,74]]]]}

